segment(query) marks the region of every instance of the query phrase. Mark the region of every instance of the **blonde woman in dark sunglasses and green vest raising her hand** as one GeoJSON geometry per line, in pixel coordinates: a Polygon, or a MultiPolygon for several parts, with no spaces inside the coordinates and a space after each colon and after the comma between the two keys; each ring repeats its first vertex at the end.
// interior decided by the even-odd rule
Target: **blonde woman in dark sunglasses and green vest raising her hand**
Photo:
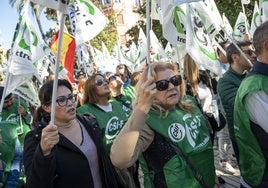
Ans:
{"type": "Polygon", "coordinates": [[[184,95],[173,64],[149,66],[137,84],[132,115],[112,145],[113,164],[126,168],[139,159],[145,188],[214,187],[213,148],[202,113],[184,95]]]}

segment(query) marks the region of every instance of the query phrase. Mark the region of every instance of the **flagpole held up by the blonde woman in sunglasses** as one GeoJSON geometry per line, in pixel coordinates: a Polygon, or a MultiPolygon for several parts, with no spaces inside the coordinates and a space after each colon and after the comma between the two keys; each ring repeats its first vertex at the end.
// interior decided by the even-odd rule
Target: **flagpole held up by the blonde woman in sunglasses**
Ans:
{"type": "MultiPolygon", "coordinates": [[[[150,48],[151,48],[151,38],[150,38],[150,29],[151,29],[151,13],[150,13],[150,0],[146,1],[146,36],[147,36],[147,65],[150,64],[151,58],[150,58],[150,48]]],[[[148,75],[150,72],[150,68],[148,69],[148,75]]]]}

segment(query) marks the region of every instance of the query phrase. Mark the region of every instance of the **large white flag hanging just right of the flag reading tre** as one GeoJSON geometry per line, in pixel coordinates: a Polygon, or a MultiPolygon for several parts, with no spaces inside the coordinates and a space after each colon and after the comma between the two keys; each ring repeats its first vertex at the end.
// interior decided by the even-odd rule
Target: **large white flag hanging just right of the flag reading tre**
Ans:
{"type": "Polygon", "coordinates": [[[198,13],[187,6],[186,50],[199,67],[204,67],[215,74],[220,73],[220,63],[210,37],[198,13]]]}

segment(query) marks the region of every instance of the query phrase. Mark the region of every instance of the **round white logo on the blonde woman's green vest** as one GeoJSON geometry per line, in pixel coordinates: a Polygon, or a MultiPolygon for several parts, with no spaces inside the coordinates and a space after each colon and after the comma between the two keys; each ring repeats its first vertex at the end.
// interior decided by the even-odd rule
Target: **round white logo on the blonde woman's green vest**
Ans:
{"type": "Polygon", "coordinates": [[[179,142],[185,137],[185,129],[179,123],[173,123],[168,128],[168,136],[174,142],[179,142]]]}

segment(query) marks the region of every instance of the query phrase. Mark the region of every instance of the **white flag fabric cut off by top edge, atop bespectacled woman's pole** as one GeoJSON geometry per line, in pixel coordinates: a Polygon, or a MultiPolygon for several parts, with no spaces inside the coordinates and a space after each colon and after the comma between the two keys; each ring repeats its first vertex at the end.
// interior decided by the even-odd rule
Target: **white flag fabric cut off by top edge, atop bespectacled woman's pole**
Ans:
{"type": "Polygon", "coordinates": [[[59,10],[64,14],[67,14],[67,6],[69,1],[68,0],[31,0],[33,3],[37,3],[39,5],[43,5],[45,7],[59,10]]]}

